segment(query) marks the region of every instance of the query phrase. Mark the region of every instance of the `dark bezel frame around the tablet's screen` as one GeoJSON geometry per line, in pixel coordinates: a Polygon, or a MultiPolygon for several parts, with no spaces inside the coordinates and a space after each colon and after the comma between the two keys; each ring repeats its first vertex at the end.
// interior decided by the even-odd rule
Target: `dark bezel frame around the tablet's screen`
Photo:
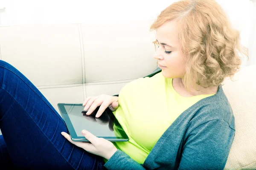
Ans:
{"type": "MultiPolygon", "coordinates": [[[[72,122],[70,120],[70,117],[68,116],[67,111],[64,107],[64,105],[82,106],[82,104],[81,103],[58,103],[57,105],[58,105],[59,111],[61,112],[61,116],[64,119],[66,127],[68,129],[68,133],[70,133],[71,140],[73,140],[75,142],[89,142],[84,136],[77,136],[76,130],[73,127],[72,122]]],[[[109,108],[107,108],[105,111],[107,111],[107,113],[109,113],[109,111],[112,113],[112,111],[109,108]]],[[[111,116],[111,117],[114,117],[114,116],[111,116]]],[[[122,137],[113,137],[113,136],[97,136],[97,137],[104,138],[104,139],[106,139],[108,141],[111,141],[111,142],[126,142],[126,141],[128,141],[129,138],[128,138],[127,134],[122,129],[122,126],[119,124],[117,119],[115,119],[115,117],[114,117],[113,121],[114,121],[114,124],[119,127],[116,130],[118,130],[118,132],[121,134],[122,137]]]]}

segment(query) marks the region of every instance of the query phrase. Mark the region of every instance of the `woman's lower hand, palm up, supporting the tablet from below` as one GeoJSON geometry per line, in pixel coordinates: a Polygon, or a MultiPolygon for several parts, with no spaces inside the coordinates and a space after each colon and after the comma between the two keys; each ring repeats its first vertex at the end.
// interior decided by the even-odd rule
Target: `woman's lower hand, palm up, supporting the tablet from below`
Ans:
{"type": "Polygon", "coordinates": [[[90,142],[74,142],[71,140],[70,135],[61,132],[61,134],[71,143],[78,147],[83,148],[87,152],[93,153],[98,156],[102,156],[105,159],[110,159],[111,156],[116,152],[116,147],[108,140],[103,138],[98,138],[88,132],[87,130],[82,130],[84,137],[90,142]]]}

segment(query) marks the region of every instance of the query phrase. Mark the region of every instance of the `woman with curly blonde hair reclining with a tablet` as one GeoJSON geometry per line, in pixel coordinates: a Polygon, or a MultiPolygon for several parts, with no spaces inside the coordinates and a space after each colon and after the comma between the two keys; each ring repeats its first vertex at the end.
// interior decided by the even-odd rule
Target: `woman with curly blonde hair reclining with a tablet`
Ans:
{"type": "Polygon", "coordinates": [[[213,0],[173,3],[151,29],[160,69],[128,83],[119,96],[92,96],[83,104],[88,115],[101,105],[96,117],[111,108],[128,142],[86,130],[90,142],[71,141],[47,99],[0,61],[0,168],[224,169],[235,120],[221,83],[239,70],[239,32],[213,0]]]}

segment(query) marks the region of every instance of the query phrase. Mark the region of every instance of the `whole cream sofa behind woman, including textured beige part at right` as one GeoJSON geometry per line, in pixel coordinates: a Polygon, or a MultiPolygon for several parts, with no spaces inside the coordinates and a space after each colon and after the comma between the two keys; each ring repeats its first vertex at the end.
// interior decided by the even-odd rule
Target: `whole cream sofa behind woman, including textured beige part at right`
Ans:
{"type": "MultiPolygon", "coordinates": [[[[150,23],[86,23],[0,27],[0,59],[20,70],[58,111],[58,102],[114,95],[157,68],[150,23]]],[[[256,169],[256,65],[223,88],[236,119],[226,169],[256,169]]],[[[59,112],[59,111],[58,111],[59,112]]]]}

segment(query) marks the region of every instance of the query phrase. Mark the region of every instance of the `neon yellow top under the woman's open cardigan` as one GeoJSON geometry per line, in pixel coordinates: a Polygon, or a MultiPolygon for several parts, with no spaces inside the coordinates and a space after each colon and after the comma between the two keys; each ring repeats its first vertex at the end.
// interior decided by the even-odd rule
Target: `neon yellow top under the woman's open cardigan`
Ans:
{"type": "Polygon", "coordinates": [[[172,79],[161,72],[129,82],[121,89],[119,108],[113,114],[130,140],[113,144],[143,164],[172,122],[187,108],[212,95],[180,96],[172,87],[172,79]]]}

